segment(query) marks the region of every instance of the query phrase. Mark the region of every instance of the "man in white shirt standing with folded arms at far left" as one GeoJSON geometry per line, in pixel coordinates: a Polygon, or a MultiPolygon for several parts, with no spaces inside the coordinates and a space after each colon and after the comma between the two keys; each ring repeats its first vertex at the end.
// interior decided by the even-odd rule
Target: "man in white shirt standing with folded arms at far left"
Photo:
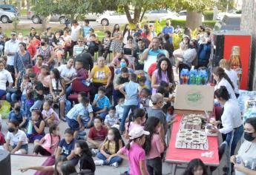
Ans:
{"type": "Polygon", "coordinates": [[[18,51],[18,40],[17,40],[17,33],[11,32],[10,33],[10,40],[5,42],[4,45],[4,53],[7,55],[7,70],[13,74],[14,78],[14,56],[18,51]]]}

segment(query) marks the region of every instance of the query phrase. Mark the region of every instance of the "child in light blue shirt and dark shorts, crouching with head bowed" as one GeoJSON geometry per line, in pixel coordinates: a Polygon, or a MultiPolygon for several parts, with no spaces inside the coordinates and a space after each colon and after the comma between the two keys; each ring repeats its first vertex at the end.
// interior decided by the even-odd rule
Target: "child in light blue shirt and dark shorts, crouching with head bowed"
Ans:
{"type": "Polygon", "coordinates": [[[74,131],[74,137],[78,135],[78,131],[85,131],[84,121],[88,121],[87,126],[91,126],[93,120],[93,109],[90,105],[90,100],[86,96],[80,96],[79,104],[74,105],[67,113],[68,126],[74,131]]]}

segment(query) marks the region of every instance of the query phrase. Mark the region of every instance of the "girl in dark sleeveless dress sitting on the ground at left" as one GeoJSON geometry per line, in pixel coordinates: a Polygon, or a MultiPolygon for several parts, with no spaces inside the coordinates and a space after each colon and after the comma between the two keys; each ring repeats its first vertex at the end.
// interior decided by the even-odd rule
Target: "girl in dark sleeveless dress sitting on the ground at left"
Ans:
{"type": "Polygon", "coordinates": [[[29,142],[37,145],[40,139],[45,136],[45,121],[40,110],[32,111],[32,125],[32,133],[27,134],[27,138],[29,142]]]}

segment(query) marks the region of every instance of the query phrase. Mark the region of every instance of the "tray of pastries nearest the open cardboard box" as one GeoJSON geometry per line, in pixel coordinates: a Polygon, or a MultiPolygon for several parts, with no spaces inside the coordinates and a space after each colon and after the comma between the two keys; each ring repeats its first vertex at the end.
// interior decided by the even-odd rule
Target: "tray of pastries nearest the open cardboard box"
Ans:
{"type": "Polygon", "coordinates": [[[206,125],[206,116],[200,114],[184,115],[180,123],[180,129],[202,130],[206,125]]]}

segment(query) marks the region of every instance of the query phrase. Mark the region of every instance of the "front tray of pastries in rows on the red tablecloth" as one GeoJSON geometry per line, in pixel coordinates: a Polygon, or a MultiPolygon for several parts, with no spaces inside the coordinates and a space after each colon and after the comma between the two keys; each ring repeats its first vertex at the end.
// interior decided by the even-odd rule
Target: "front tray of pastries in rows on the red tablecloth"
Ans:
{"type": "Polygon", "coordinates": [[[208,139],[205,131],[184,129],[177,133],[176,148],[208,150],[208,139]]]}

